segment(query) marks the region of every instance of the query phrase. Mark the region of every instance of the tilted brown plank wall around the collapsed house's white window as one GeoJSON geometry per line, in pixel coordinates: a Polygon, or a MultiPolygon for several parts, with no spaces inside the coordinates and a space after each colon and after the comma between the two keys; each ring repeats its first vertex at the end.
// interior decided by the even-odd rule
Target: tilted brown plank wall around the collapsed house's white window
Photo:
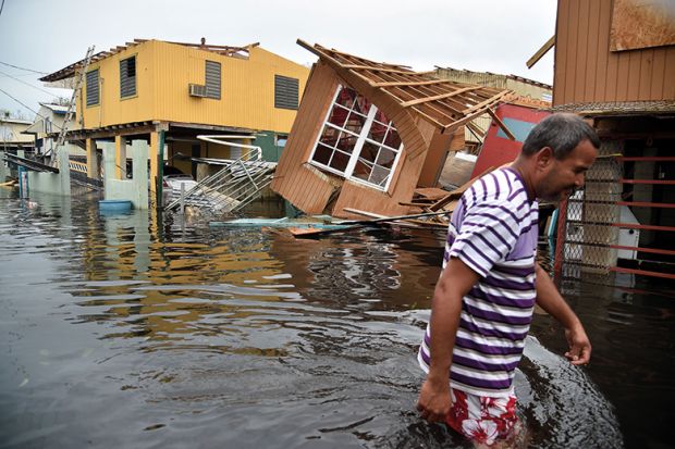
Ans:
{"type": "Polygon", "coordinates": [[[335,71],[326,63],[318,62],[310,75],[297,119],[279,162],[272,189],[306,213],[324,212],[328,205],[329,210],[326,212],[340,217],[358,216],[345,212],[345,208],[384,215],[405,214],[409,208],[398,203],[413,198],[434,129],[363,78],[347,70],[335,71]],[[398,130],[404,149],[389,191],[320,173],[307,163],[335,89],[341,83],[346,83],[366,96],[394,122],[398,130]],[[333,200],[331,195],[336,189],[340,189],[338,198],[334,203],[329,204],[329,200],[333,200]]]}

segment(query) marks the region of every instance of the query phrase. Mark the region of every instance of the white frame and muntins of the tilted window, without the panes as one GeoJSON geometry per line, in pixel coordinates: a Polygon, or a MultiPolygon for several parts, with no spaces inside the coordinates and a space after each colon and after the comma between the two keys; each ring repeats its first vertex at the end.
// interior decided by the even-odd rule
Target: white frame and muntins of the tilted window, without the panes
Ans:
{"type": "MultiPolygon", "coordinates": [[[[349,110],[346,110],[346,108],[344,108],[343,105],[342,107],[343,107],[343,109],[346,110],[347,114],[349,114],[349,113],[352,113],[354,111],[354,105],[358,101],[355,101],[354,103],[352,103],[352,107],[351,107],[349,110]]],[[[394,173],[396,172],[396,167],[398,166],[398,162],[401,160],[401,154],[403,153],[403,140],[401,140],[401,136],[398,136],[398,139],[401,140],[401,145],[398,146],[398,148],[392,148],[390,146],[384,145],[384,140],[385,140],[386,137],[384,137],[381,142],[375,141],[375,140],[372,140],[372,139],[370,139],[368,137],[370,135],[370,130],[372,129],[373,123],[376,123],[376,116],[377,116],[378,112],[381,112],[381,111],[372,102],[370,102],[363,95],[360,95],[358,91],[356,91],[355,89],[353,89],[353,88],[351,88],[348,86],[339,85],[338,88],[335,89],[335,93],[333,96],[333,101],[331,102],[331,105],[328,109],[328,112],[327,112],[326,117],[323,120],[323,125],[321,126],[321,130],[319,132],[319,135],[317,136],[317,140],[316,140],[316,142],[314,145],[314,148],[311,150],[311,154],[309,155],[309,161],[308,162],[311,165],[314,165],[314,166],[317,166],[317,167],[319,167],[321,170],[324,170],[327,172],[336,174],[336,175],[339,175],[341,177],[344,177],[345,179],[353,180],[355,183],[363,184],[365,186],[368,186],[368,187],[371,187],[371,188],[375,188],[375,189],[378,189],[378,190],[389,191],[390,186],[391,186],[391,184],[392,184],[392,182],[394,179],[394,173]],[[342,89],[345,89],[345,88],[353,90],[356,93],[357,98],[361,97],[361,98],[364,98],[369,103],[369,109],[368,109],[368,112],[366,114],[366,122],[363,124],[363,127],[360,128],[360,130],[358,130],[358,134],[356,134],[355,130],[353,130],[353,129],[348,129],[348,128],[344,127],[346,125],[346,123],[343,124],[342,126],[338,126],[338,125],[335,125],[335,124],[330,122],[331,114],[333,113],[333,110],[335,108],[341,108],[341,107],[336,107],[335,104],[336,104],[338,98],[340,96],[340,92],[342,91],[342,89]],[[315,159],[314,159],[315,155],[316,155],[317,149],[319,148],[319,144],[321,142],[321,137],[323,136],[327,127],[330,127],[330,128],[334,129],[336,133],[339,133],[340,136],[342,136],[342,134],[346,133],[351,137],[356,137],[356,142],[354,144],[354,147],[352,148],[352,152],[349,154],[349,160],[348,160],[344,171],[341,171],[341,170],[338,170],[338,169],[334,169],[334,167],[330,166],[329,164],[330,164],[331,161],[329,161],[328,164],[323,164],[323,163],[321,163],[319,161],[315,161],[315,159]],[[378,152],[377,152],[376,157],[373,158],[372,162],[361,158],[361,151],[364,150],[364,147],[365,147],[366,144],[369,144],[370,146],[375,146],[375,147],[378,148],[378,152]],[[376,164],[376,162],[378,161],[379,155],[380,155],[382,149],[385,149],[388,151],[391,151],[391,152],[395,153],[395,157],[394,157],[394,160],[392,162],[391,167],[385,167],[383,165],[376,164]],[[355,175],[354,174],[354,170],[356,169],[357,163],[359,163],[359,162],[361,164],[364,164],[365,166],[369,167],[369,173],[368,173],[368,177],[369,178],[371,177],[371,175],[372,175],[372,173],[373,173],[376,167],[380,167],[382,170],[388,170],[389,173],[386,174],[386,176],[384,178],[385,183],[383,185],[382,185],[382,182],[377,184],[377,183],[370,182],[368,179],[364,179],[364,178],[358,177],[357,175],[355,175]]],[[[359,113],[359,114],[363,115],[363,113],[359,113]]],[[[379,120],[377,122],[380,123],[380,124],[384,124],[383,122],[380,122],[379,120]]],[[[396,134],[398,133],[398,130],[394,126],[393,121],[388,120],[386,124],[384,124],[384,125],[386,125],[386,132],[388,133],[391,133],[391,132],[395,132],[396,134]]],[[[385,134],[385,136],[386,136],[386,134],[385,134]]],[[[330,146],[327,146],[326,144],[323,144],[323,146],[330,147],[330,146]]],[[[340,150],[336,147],[330,147],[330,149],[332,150],[332,152],[331,152],[331,160],[332,160],[332,158],[334,157],[335,152],[338,152],[340,150]]]]}

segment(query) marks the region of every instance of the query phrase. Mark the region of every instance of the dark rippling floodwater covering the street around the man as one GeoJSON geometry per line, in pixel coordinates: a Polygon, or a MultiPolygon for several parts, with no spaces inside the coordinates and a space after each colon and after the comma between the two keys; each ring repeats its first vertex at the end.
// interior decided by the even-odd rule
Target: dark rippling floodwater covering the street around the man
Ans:
{"type": "MultiPolygon", "coordinates": [[[[96,200],[0,189],[0,447],[470,447],[415,412],[442,233],[296,240],[96,200]]],[[[529,447],[673,445],[675,301],[630,280],[563,285],[589,366],[537,314],[529,447]]]]}

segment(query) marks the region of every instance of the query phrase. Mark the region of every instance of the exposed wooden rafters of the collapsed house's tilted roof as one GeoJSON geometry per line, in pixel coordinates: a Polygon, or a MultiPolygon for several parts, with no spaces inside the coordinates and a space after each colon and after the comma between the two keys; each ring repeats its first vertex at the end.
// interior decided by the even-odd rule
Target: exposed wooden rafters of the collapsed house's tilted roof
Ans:
{"type": "Polygon", "coordinates": [[[439,79],[434,72],[414,72],[409,67],[369,61],[318,43],[298,39],[297,43],[334,68],[346,70],[389,96],[401,108],[410,108],[442,130],[454,129],[484,114],[511,90],[439,79]]]}

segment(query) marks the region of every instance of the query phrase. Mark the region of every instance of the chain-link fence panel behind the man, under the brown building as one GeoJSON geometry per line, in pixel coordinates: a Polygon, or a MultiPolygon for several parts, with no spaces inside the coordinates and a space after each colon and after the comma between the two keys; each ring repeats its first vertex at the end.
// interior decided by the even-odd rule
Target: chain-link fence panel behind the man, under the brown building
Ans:
{"type": "MultiPolygon", "coordinates": [[[[623,141],[603,141],[596,163],[586,174],[584,189],[567,201],[559,252],[564,278],[579,278],[582,273],[608,274],[616,265],[622,200],[623,164],[617,159],[623,141]]],[[[563,216],[564,215],[564,216],[563,216]]]]}

